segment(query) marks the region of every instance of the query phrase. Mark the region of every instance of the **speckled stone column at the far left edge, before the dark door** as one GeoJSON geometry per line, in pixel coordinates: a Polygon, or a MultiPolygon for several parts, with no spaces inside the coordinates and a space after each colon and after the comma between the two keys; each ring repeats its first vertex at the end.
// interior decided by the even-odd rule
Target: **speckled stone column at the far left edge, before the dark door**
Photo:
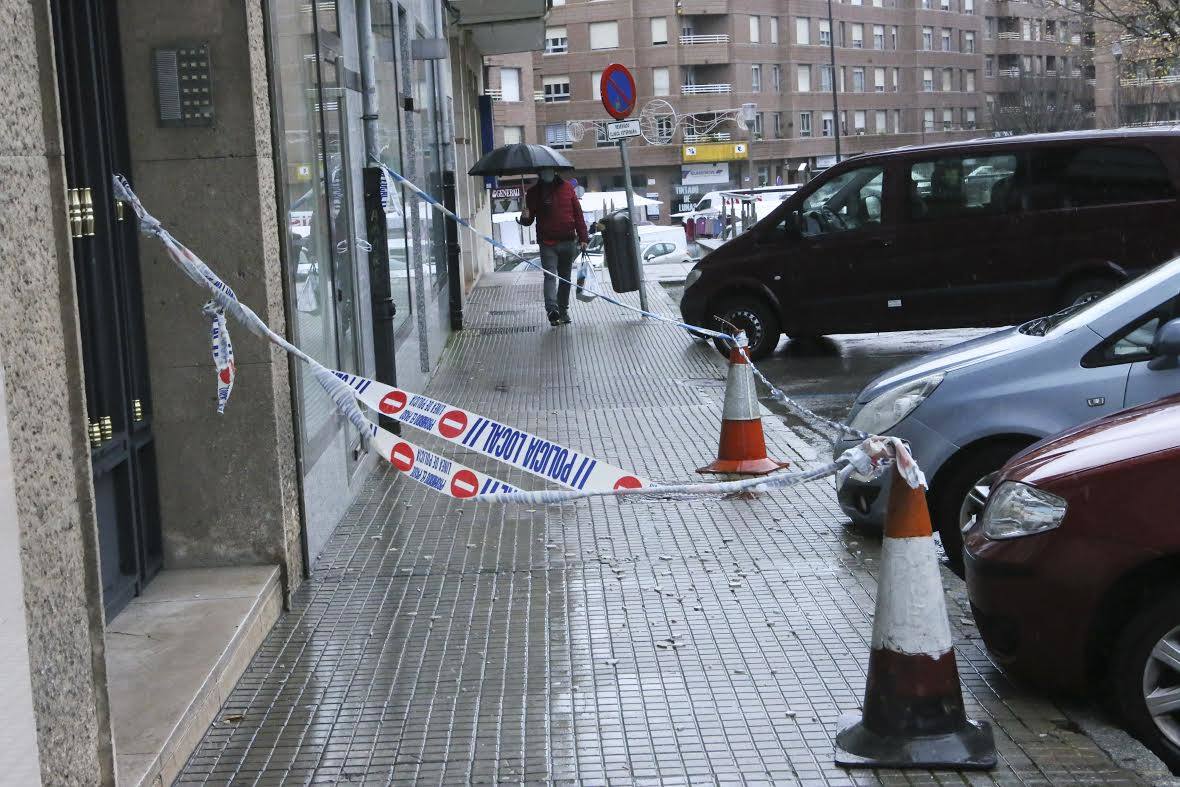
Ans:
{"type": "Polygon", "coordinates": [[[28,680],[41,781],[106,785],[103,593],[48,0],[0,0],[0,365],[15,522],[11,507],[0,520],[19,530],[31,664],[5,674],[28,680]]]}

